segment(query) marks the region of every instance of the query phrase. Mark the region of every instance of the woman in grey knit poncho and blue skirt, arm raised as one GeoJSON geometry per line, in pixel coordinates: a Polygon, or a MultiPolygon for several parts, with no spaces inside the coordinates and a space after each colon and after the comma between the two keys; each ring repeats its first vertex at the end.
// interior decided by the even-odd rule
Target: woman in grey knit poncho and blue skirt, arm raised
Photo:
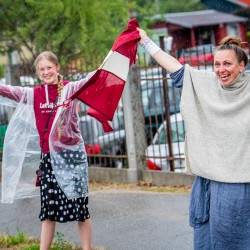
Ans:
{"type": "Polygon", "coordinates": [[[250,76],[241,40],[226,37],[214,72],[181,65],[144,30],[140,44],[182,87],[185,156],[196,175],[190,200],[194,249],[250,249],[250,76]]]}

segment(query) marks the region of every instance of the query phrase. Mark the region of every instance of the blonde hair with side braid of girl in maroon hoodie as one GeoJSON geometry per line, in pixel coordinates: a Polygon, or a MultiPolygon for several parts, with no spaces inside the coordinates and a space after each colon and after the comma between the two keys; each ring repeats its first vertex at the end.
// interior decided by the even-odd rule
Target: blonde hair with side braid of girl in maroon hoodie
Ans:
{"type": "MultiPolygon", "coordinates": [[[[37,56],[37,58],[34,62],[34,67],[35,67],[37,73],[39,71],[38,64],[42,59],[46,59],[46,60],[52,62],[53,64],[55,64],[56,66],[59,65],[58,58],[54,53],[52,53],[51,51],[43,51],[42,53],[40,53],[37,56]]],[[[63,86],[64,86],[63,85],[63,76],[58,74],[58,97],[59,98],[61,97],[63,86]]]]}

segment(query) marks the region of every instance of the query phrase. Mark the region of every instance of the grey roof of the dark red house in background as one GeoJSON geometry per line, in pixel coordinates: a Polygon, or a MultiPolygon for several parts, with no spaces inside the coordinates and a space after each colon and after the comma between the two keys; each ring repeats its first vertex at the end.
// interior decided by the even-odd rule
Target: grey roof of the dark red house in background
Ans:
{"type": "Polygon", "coordinates": [[[179,25],[186,28],[247,21],[247,18],[232,14],[226,14],[216,10],[157,14],[154,15],[153,18],[157,19],[160,17],[163,17],[167,23],[179,25]]]}

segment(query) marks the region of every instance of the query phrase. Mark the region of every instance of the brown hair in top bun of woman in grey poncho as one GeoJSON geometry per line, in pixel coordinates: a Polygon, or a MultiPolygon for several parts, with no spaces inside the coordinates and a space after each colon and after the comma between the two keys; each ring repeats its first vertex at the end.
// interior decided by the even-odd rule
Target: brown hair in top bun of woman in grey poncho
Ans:
{"type": "Polygon", "coordinates": [[[246,66],[248,63],[248,57],[245,51],[241,48],[241,45],[242,41],[240,38],[235,36],[226,36],[220,41],[215,52],[220,50],[233,50],[236,54],[238,63],[243,61],[246,66]]]}

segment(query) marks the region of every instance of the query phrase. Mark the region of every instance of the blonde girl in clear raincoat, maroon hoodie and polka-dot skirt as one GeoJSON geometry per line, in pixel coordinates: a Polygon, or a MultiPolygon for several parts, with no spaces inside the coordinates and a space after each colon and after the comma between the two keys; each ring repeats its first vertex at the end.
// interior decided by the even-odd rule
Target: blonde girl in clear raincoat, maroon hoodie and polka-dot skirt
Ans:
{"type": "Polygon", "coordinates": [[[35,186],[34,166],[37,169],[38,163],[34,164],[37,157],[33,162],[31,159],[39,155],[36,151],[39,135],[40,249],[50,249],[56,222],[78,221],[83,249],[90,250],[88,163],[78,129],[78,101],[73,100],[70,108],[62,105],[88,78],[70,83],[63,81],[57,57],[49,51],[42,52],[34,65],[43,81],[41,86],[22,88],[0,84],[0,104],[16,107],[5,137],[2,202],[33,196],[32,188],[27,185],[33,180],[35,186]]]}

